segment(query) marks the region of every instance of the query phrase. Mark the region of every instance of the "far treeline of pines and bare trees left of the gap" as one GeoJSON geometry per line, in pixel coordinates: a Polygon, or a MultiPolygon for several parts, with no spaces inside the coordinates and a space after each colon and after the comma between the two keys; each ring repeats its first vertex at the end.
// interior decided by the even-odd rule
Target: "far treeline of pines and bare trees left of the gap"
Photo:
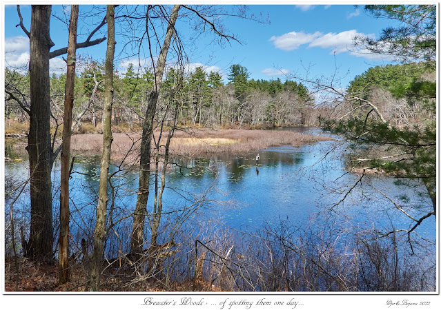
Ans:
{"type": "MultiPolygon", "coordinates": [[[[29,76],[6,69],[6,88],[17,96],[27,98],[29,76]]],[[[115,72],[113,123],[137,127],[148,102],[148,93],[153,87],[154,74],[151,68],[135,70],[130,64],[125,73],[115,72]]],[[[286,125],[317,125],[314,101],[308,89],[296,81],[282,82],[280,79],[266,81],[249,79],[242,65],[232,65],[228,80],[219,72],[205,72],[197,67],[193,72],[179,76],[179,70],[168,68],[164,76],[164,90],[159,97],[159,109],[164,107],[170,94],[175,92],[175,83],[182,83],[178,123],[199,127],[265,127],[286,125]]],[[[50,77],[52,122],[62,118],[66,74],[50,77]]],[[[75,79],[74,130],[99,131],[102,121],[104,92],[104,65],[92,61],[75,79]],[[91,126],[91,125],[92,126],[91,126]]],[[[23,107],[6,96],[6,119],[26,121],[23,107]]],[[[25,101],[27,102],[27,101],[25,101]]],[[[25,107],[26,108],[26,107],[25,107]]],[[[55,124],[52,124],[55,125],[55,124]]]]}

